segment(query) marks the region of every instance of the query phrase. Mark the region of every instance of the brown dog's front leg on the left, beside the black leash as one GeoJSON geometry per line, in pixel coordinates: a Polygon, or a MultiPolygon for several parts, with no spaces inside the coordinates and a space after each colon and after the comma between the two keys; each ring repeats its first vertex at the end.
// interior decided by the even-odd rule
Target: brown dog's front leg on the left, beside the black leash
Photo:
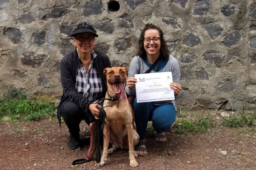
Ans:
{"type": "Polygon", "coordinates": [[[102,151],[102,156],[101,156],[101,163],[96,163],[95,167],[103,167],[107,160],[107,149],[109,147],[109,137],[110,137],[110,126],[104,124],[103,128],[103,151],[102,151]]]}

